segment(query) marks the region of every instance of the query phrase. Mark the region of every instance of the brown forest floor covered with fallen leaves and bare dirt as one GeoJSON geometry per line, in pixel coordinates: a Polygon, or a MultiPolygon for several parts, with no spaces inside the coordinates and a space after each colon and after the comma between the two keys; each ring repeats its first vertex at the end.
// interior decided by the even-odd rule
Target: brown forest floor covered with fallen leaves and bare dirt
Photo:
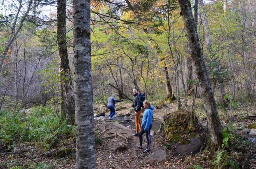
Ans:
{"type": "MultiPolygon", "coordinates": [[[[155,106],[154,104],[157,105],[157,102],[152,102],[153,106],[155,106]]],[[[201,104],[203,103],[199,103],[197,107],[200,107],[201,104]]],[[[166,108],[154,109],[153,117],[157,118],[158,116],[164,116],[167,113],[174,112],[175,110],[177,110],[176,105],[176,103],[168,103],[166,108]]],[[[95,105],[95,108],[96,107],[102,110],[105,109],[103,105],[95,105]]],[[[116,114],[125,111],[127,112],[130,109],[130,103],[116,103],[116,109],[118,107],[127,107],[127,109],[117,111],[116,114]]],[[[254,110],[255,105],[245,104],[240,105],[240,107],[236,110],[237,112],[232,112],[232,114],[239,114],[239,119],[245,119],[245,116],[247,115],[254,115],[254,110]]],[[[200,111],[203,112],[203,110],[196,110],[199,116],[201,116],[199,113],[200,111]]],[[[220,118],[221,117],[222,116],[220,116],[220,118]]],[[[203,117],[201,116],[201,118],[203,117]]],[[[238,118],[238,116],[236,116],[236,118],[238,118]]],[[[243,120],[244,125],[248,125],[250,123],[255,123],[254,119],[243,120]]],[[[166,144],[162,133],[157,133],[156,135],[152,136],[151,152],[143,154],[142,150],[137,148],[137,146],[139,145],[139,137],[135,137],[132,135],[135,132],[135,129],[128,129],[113,120],[95,121],[95,128],[97,128],[97,132],[101,137],[102,141],[101,144],[96,145],[97,169],[193,169],[193,165],[201,166],[202,168],[210,168],[209,162],[207,160],[203,160],[207,159],[207,157],[204,156],[209,155],[209,152],[195,155],[191,154],[189,156],[181,156],[179,154],[176,154],[174,152],[174,148],[166,144]],[[142,163],[143,159],[150,156],[153,152],[157,150],[166,150],[167,158],[162,160],[161,162],[142,163]]],[[[144,149],[146,147],[146,143],[146,137],[144,134],[144,149]]],[[[71,148],[74,150],[74,138],[69,138],[67,141],[62,142],[62,146],[54,150],[48,150],[47,152],[37,149],[37,146],[33,143],[24,143],[20,145],[20,147],[22,148],[23,153],[27,155],[27,157],[25,157],[24,154],[0,153],[0,169],[11,168],[10,165],[6,165],[6,160],[9,160],[11,162],[13,161],[13,163],[19,164],[19,166],[27,166],[27,168],[32,169],[32,158],[37,162],[47,164],[53,169],[75,169],[75,151],[64,157],[56,157],[54,155],[60,148],[71,148]]],[[[239,154],[239,151],[236,151],[234,153],[239,154]]],[[[246,161],[240,161],[238,158],[236,162],[246,163],[246,165],[244,165],[243,167],[245,169],[256,169],[255,143],[251,143],[250,146],[247,146],[247,151],[245,153],[243,152],[242,155],[246,156],[246,161]]],[[[43,164],[41,168],[44,168],[43,164]]]]}

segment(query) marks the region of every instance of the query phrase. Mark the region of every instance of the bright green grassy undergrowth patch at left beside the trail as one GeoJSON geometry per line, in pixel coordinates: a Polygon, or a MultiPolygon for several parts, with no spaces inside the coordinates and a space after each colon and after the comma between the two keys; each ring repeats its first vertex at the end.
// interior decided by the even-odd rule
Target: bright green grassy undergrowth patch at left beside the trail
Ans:
{"type": "Polygon", "coordinates": [[[14,141],[35,142],[47,151],[56,147],[62,137],[74,137],[75,126],[66,125],[65,117],[50,106],[31,108],[30,113],[1,111],[0,142],[11,146],[14,141]]]}

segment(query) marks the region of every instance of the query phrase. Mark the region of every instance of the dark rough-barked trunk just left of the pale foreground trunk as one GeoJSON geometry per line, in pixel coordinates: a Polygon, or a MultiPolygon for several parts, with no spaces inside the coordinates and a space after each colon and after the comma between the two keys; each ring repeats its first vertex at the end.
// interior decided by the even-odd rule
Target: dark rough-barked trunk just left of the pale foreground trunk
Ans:
{"type": "Polygon", "coordinates": [[[57,41],[59,46],[60,78],[62,79],[60,84],[62,85],[62,87],[60,87],[62,90],[60,90],[60,92],[63,92],[60,96],[65,96],[65,98],[62,99],[65,101],[66,109],[62,111],[66,113],[67,124],[73,125],[75,123],[75,100],[66,45],[66,0],[58,0],[57,4],[57,41]]]}

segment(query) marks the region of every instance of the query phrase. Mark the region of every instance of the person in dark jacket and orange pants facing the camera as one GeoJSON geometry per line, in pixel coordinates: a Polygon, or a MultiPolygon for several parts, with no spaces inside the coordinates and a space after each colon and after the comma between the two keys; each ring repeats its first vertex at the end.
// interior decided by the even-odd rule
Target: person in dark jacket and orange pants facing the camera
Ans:
{"type": "Polygon", "coordinates": [[[141,98],[140,95],[138,94],[138,89],[133,88],[133,104],[131,105],[134,108],[134,117],[135,117],[135,128],[136,128],[136,133],[134,133],[134,136],[139,136],[139,131],[141,130],[141,121],[140,121],[140,114],[141,114],[141,98]]]}

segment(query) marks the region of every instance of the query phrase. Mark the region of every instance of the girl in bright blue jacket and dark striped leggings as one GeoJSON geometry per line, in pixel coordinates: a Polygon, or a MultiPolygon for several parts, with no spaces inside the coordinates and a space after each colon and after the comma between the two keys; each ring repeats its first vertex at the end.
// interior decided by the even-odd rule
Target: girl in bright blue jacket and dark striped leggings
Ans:
{"type": "Polygon", "coordinates": [[[146,133],[146,138],[147,138],[147,149],[143,151],[143,153],[148,153],[150,152],[150,143],[151,143],[151,138],[150,138],[150,131],[152,129],[152,117],[153,117],[153,112],[152,110],[154,107],[150,105],[150,102],[145,100],[143,102],[143,106],[145,108],[145,111],[143,113],[143,118],[142,118],[142,123],[141,123],[141,131],[139,132],[139,138],[140,138],[140,145],[138,146],[139,149],[143,149],[142,147],[142,135],[146,133]]]}

